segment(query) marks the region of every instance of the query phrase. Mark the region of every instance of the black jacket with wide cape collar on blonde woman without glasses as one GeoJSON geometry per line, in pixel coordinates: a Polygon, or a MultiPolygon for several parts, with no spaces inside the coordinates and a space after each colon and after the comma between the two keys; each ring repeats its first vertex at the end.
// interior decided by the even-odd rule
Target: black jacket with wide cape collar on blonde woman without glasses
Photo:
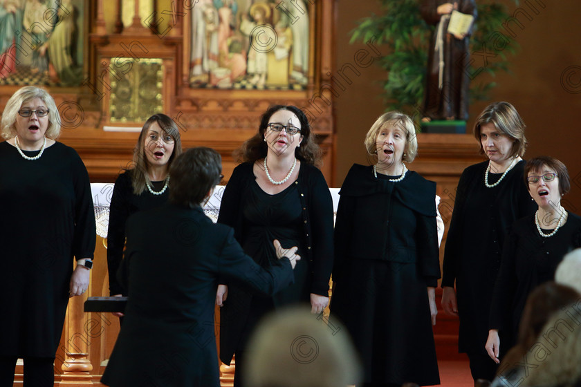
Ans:
{"type": "Polygon", "coordinates": [[[427,285],[437,286],[436,183],[414,171],[400,182],[377,176],[371,167],[353,164],[341,187],[333,281],[342,280],[350,259],[378,259],[416,263],[427,285]]]}

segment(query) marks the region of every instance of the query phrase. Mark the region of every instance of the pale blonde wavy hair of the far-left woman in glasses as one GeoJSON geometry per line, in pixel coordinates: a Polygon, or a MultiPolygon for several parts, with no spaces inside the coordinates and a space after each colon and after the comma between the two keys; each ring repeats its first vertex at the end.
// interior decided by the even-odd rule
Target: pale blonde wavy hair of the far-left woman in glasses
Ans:
{"type": "Polygon", "coordinates": [[[2,113],[2,120],[0,122],[2,137],[6,140],[16,136],[16,118],[21,106],[30,100],[39,98],[46,104],[48,108],[48,128],[44,135],[51,140],[57,140],[60,135],[60,116],[57,109],[57,104],[53,97],[48,94],[44,88],[36,86],[24,86],[12,94],[10,100],[6,102],[6,107],[2,113]]]}

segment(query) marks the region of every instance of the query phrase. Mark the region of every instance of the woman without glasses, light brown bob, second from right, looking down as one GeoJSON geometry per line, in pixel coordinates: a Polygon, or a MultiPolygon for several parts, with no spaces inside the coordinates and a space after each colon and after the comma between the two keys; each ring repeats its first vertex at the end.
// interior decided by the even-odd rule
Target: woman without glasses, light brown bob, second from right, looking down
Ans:
{"type": "Polygon", "coordinates": [[[522,181],[525,127],[508,102],[488,105],[474,124],[474,138],[487,160],[464,169],[455,192],[442,266],[442,308],[460,319],[459,352],[467,353],[474,381],[490,381],[497,370],[484,350],[489,327],[483,316],[490,313],[506,234],[515,220],[536,209],[522,181]]]}

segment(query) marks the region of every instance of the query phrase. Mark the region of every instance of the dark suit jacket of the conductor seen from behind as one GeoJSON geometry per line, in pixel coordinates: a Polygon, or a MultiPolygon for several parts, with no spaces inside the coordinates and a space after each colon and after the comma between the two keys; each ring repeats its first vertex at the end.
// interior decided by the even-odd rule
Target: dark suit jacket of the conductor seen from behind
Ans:
{"type": "Polygon", "coordinates": [[[214,337],[218,277],[265,294],[293,283],[287,258],[266,271],[201,208],[165,205],[127,221],[118,273],[129,294],[102,377],[108,386],[219,386],[214,337]]]}

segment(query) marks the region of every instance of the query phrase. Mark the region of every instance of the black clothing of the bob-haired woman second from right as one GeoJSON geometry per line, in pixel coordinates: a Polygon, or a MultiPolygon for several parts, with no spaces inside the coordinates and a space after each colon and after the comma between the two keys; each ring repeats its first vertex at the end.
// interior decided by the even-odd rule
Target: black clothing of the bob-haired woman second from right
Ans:
{"type": "MultiPolygon", "coordinates": [[[[525,164],[524,160],[518,162],[496,187],[484,185],[488,161],[466,168],[458,182],[445,244],[442,286],[456,282],[462,352],[486,354],[486,316],[504,240],[515,220],[537,209],[524,183],[525,164]]],[[[501,173],[489,173],[488,184],[500,177],[501,173]]],[[[454,193],[448,195],[454,198],[454,193]]]]}

